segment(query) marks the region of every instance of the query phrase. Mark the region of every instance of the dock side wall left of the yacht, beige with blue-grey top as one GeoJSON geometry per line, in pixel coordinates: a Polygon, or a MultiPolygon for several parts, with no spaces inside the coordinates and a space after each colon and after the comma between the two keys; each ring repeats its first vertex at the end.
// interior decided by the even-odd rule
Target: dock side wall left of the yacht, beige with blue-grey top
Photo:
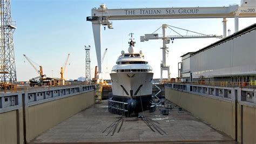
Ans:
{"type": "Polygon", "coordinates": [[[94,102],[94,89],[91,85],[1,93],[0,143],[30,142],[94,102]]]}

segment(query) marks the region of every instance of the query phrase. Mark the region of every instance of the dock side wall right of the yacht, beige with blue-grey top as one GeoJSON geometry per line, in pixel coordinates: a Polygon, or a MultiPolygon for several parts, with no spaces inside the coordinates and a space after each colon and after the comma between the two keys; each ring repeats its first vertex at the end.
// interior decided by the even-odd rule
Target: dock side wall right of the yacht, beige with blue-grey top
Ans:
{"type": "Polygon", "coordinates": [[[166,99],[240,143],[256,143],[255,95],[248,88],[165,85],[166,99]],[[250,99],[245,98],[248,93],[253,95],[250,99]]]}

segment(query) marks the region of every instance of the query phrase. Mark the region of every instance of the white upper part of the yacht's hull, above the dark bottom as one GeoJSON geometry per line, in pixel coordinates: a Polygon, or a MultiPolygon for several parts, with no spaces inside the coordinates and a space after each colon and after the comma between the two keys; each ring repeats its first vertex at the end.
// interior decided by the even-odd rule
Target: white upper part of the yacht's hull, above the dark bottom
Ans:
{"type": "Polygon", "coordinates": [[[121,97],[152,95],[151,72],[111,73],[112,93],[121,97]]]}

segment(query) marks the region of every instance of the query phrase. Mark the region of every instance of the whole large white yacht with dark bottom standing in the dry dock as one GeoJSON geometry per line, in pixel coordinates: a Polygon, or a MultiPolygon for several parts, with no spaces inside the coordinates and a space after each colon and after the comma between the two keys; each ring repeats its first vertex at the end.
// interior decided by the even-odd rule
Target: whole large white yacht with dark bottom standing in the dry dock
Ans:
{"type": "Polygon", "coordinates": [[[152,67],[147,64],[142,51],[134,52],[132,38],[128,53],[122,51],[110,74],[112,100],[128,103],[130,112],[138,113],[150,106],[152,98],[152,67]]]}

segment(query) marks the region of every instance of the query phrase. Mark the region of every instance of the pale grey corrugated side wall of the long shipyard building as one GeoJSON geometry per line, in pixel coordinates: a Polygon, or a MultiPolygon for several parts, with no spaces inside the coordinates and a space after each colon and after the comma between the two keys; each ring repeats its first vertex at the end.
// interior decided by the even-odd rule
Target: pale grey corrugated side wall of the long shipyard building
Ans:
{"type": "Polygon", "coordinates": [[[256,74],[255,30],[190,58],[193,78],[256,74]]]}

